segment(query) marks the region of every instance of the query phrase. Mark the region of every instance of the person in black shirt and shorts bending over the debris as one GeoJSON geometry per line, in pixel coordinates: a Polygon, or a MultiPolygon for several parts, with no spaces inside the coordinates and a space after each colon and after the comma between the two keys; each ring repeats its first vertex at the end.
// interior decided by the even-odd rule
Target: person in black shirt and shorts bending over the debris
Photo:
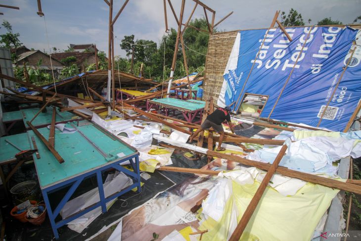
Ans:
{"type": "Polygon", "coordinates": [[[220,134],[220,138],[218,140],[218,147],[217,150],[225,150],[225,148],[223,148],[222,142],[223,139],[225,137],[225,131],[223,130],[223,126],[222,126],[222,122],[224,122],[225,120],[228,122],[229,124],[229,128],[232,131],[232,133],[234,133],[233,131],[233,125],[230,122],[230,107],[226,106],[225,108],[217,108],[212,114],[210,114],[207,119],[203,122],[203,124],[201,125],[201,128],[199,128],[196,132],[193,133],[193,135],[190,137],[189,141],[192,142],[193,139],[198,135],[198,133],[200,133],[201,131],[204,130],[208,130],[209,128],[213,127],[213,130],[215,130],[217,133],[220,134]]]}

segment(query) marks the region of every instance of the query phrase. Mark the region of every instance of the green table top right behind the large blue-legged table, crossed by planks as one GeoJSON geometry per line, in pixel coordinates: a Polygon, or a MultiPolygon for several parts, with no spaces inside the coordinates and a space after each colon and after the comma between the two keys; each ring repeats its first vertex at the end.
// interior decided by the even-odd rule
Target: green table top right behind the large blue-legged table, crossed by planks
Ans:
{"type": "MultiPolygon", "coordinates": [[[[20,110],[22,112],[22,118],[25,124],[26,128],[29,128],[28,124],[26,124],[26,121],[30,121],[31,119],[33,119],[33,117],[36,115],[36,113],[38,113],[38,111],[40,110],[40,108],[29,108],[29,109],[22,109],[20,110]],[[25,115],[25,118],[24,118],[25,115]]],[[[31,124],[33,124],[33,126],[43,126],[46,124],[51,123],[51,117],[52,117],[52,107],[47,106],[46,107],[46,112],[40,112],[39,115],[33,120],[33,122],[31,124]]],[[[63,122],[63,121],[68,121],[68,120],[72,120],[72,119],[79,119],[80,117],[68,112],[68,111],[64,111],[64,112],[60,112],[59,108],[56,108],[56,115],[55,115],[55,122],[63,122]]]]}

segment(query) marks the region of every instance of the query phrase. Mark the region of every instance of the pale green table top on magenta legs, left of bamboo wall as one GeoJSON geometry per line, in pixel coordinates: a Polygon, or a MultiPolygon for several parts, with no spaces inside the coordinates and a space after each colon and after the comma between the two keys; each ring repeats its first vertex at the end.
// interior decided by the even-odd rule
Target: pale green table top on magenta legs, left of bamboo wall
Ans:
{"type": "Polygon", "coordinates": [[[188,111],[198,110],[204,108],[206,102],[198,99],[176,99],[176,98],[159,98],[152,99],[151,102],[169,105],[175,108],[182,108],[188,111]]]}

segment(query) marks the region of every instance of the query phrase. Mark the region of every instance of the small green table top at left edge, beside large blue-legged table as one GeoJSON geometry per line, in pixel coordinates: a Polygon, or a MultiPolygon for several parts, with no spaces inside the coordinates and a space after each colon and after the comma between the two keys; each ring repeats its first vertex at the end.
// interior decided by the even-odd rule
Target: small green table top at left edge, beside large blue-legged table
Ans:
{"type": "Polygon", "coordinates": [[[8,144],[5,140],[19,147],[21,150],[30,149],[30,142],[27,133],[21,133],[12,136],[6,136],[0,138],[0,164],[7,162],[8,160],[15,158],[15,154],[20,152],[16,147],[8,144]]]}

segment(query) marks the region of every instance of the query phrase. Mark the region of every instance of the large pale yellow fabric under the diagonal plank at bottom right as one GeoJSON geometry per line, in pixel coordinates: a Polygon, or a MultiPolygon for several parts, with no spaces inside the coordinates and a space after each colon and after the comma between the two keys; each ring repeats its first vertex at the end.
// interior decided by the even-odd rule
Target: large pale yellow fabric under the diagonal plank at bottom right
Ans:
{"type": "MultiPolygon", "coordinates": [[[[229,239],[232,234],[230,224],[235,228],[259,186],[258,182],[242,186],[232,181],[233,193],[220,221],[208,218],[199,227],[199,230],[208,230],[202,241],[229,239]]],[[[283,196],[267,187],[240,240],[311,240],[318,221],[338,192],[307,183],[295,195],[283,196]]]]}

